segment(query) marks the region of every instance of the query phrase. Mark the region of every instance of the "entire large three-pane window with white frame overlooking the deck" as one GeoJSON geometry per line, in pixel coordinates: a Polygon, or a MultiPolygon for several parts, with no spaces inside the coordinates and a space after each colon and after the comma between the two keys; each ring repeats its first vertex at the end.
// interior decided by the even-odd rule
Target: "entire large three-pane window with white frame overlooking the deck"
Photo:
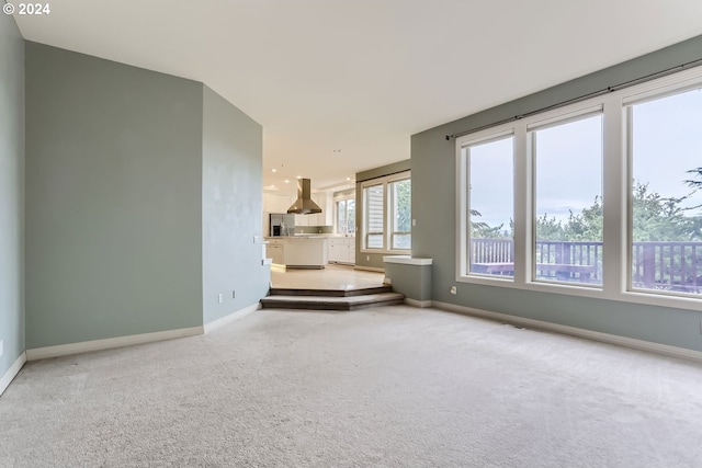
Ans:
{"type": "Polygon", "coordinates": [[[701,123],[698,67],[457,137],[456,281],[702,310],[701,123]]]}

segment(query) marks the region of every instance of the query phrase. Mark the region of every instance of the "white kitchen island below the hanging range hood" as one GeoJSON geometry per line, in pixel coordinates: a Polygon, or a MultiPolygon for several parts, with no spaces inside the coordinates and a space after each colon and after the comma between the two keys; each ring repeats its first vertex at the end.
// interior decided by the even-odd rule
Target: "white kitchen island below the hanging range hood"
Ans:
{"type": "Polygon", "coordinates": [[[327,237],[283,236],[265,239],[267,256],[287,269],[324,269],[328,259],[327,237]]]}

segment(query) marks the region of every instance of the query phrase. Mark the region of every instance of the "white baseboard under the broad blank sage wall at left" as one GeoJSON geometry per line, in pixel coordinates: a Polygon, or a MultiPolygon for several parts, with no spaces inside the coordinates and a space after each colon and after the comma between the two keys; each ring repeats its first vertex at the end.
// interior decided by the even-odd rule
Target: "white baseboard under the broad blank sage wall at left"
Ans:
{"type": "Polygon", "coordinates": [[[48,357],[111,350],[113,347],[132,346],[134,344],[152,343],[156,341],[173,340],[177,338],[194,336],[197,334],[203,334],[202,327],[157,331],[154,333],[131,334],[127,336],[115,336],[104,340],[81,341],[79,343],[59,344],[56,346],[35,347],[33,350],[26,350],[26,359],[46,359],[48,357]]]}

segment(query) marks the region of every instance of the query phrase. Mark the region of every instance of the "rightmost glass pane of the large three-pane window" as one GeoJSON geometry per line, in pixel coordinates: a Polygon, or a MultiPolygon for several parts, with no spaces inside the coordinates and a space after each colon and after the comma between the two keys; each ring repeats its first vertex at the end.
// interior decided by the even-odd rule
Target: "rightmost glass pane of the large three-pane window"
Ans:
{"type": "Polygon", "coordinates": [[[702,91],[633,103],[633,289],[702,294],[702,91]]]}

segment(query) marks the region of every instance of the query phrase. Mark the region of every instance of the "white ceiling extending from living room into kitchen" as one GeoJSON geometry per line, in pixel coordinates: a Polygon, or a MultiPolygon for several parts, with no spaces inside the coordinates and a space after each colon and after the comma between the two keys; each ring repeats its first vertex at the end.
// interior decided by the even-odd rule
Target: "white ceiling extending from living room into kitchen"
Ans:
{"type": "Polygon", "coordinates": [[[699,0],[50,8],[47,16],[15,13],[26,39],[206,83],[263,126],[263,183],[283,189],[296,175],[315,190],[342,184],[408,159],[414,133],[702,34],[699,0]]]}

